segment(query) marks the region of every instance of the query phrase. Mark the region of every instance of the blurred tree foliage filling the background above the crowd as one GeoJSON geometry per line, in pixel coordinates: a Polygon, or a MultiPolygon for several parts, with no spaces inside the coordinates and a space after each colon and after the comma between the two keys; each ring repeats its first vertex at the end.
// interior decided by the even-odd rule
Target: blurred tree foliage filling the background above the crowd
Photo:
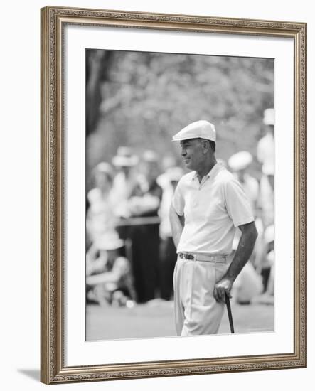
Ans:
{"type": "Polygon", "coordinates": [[[198,119],[217,130],[217,156],[254,156],[274,105],[267,58],[87,50],[87,170],[119,145],[176,154],[171,136],[198,119]]]}

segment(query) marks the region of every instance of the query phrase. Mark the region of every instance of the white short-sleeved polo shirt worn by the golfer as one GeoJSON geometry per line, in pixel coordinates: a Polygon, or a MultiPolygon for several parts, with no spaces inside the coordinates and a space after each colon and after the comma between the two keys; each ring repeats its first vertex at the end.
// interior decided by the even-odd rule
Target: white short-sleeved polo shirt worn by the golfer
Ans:
{"type": "Polygon", "coordinates": [[[236,227],[254,221],[250,203],[232,173],[215,164],[201,183],[196,171],[181,178],[172,200],[185,225],[177,252],[229,255],[236,227]]]}

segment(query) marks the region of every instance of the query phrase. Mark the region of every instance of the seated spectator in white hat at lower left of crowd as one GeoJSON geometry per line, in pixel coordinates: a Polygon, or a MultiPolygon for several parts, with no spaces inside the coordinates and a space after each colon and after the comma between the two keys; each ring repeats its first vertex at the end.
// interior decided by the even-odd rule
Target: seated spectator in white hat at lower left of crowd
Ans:
{"type": "Polygon", "coordinates": [[[103,236],[100,257],[87,262],[87,299],[102,306],[132,306],[135,299],[131,266],[119,249],[124,242],[117,232],[103,236]]]}

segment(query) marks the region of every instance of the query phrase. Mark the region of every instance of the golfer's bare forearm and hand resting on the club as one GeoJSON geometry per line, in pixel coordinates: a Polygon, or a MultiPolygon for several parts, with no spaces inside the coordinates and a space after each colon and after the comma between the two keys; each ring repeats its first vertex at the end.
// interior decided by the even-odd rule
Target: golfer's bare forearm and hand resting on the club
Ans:
{"type": "Polygon", "coordinates": [[[223,278],[215,284],[213,291],[215,300],[223,303],[225,302],[225,292],[230,297],[230,290],[233,286],[233,282],[238,274],[240,274],[240,271],[245,266],[248,259],[250,259],[257,238],[257,229],[254,221],[252,221],[252,223],[240,225],[239,228],[242,235],[240,237],[240,242],[238,242],[233,261],[230,263],[230,267],[223,278]]]}

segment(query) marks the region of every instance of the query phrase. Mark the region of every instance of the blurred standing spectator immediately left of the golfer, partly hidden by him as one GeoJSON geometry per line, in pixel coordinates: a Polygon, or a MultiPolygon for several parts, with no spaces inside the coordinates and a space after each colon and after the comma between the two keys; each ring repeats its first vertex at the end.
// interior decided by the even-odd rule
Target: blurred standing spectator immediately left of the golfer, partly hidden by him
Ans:
{"type": "MultiPolygon", "coordinates": [[[[176,264],[176,247],[173,244],[171,232],[171,223],[169,221],[169,208],[173,193],[178,181],[183,176],[183,169],[180,167],[171,167],[162,174],[164,176],[164,188],[161,200],[159,215],[161,218],[160,238],[161,238],[161,257],[160,257],[160,286],[161,298],[171,299],[173,296],[173,271],[176,264]]],[[[160,176],[161,177],[161,176],[160,176]]]]}

